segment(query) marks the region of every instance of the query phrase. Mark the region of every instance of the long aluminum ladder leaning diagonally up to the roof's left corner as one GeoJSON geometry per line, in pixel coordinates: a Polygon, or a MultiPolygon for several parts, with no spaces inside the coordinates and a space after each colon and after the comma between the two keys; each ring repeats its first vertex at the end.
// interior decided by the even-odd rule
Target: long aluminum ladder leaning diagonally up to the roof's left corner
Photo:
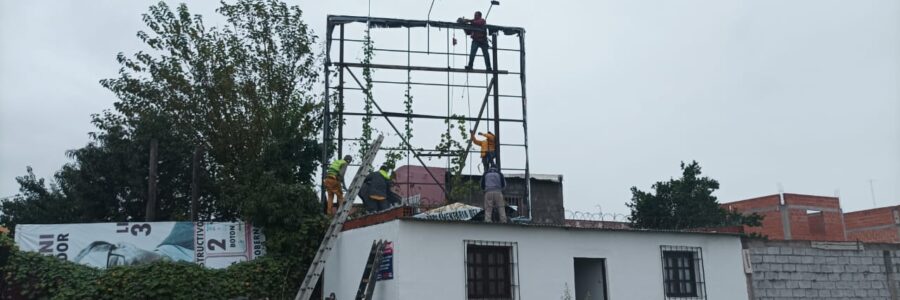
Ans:
{"type": "Polygon", "coordinates": [[[375,155],[378,154],[378,148],[381,147],[381,141],[383,140],[384,136],[379,135],[369,146],[369,151],[366,152],[366,155],[363,156],[359,170],[356,171],[356,176],[353,177],[350,189],[344,198],[344,206],[340,207],[331,220],[331,225],[328,226],[325,237],[322,238],[319,250],[316,251],[316,257],[309,265],[309,269],[306,271],[306,276],[303,277],[303,283],[300,284],[300,290],[297,291],[297,296],[294,297],[294,300],[309,300],[312,297],[313,290],[315,290],[319,278],[322,277],[322,271],[325,270],[325,262],[328,260],[328,256],[331,255],[331,250],[337,242],[337,237],[341,234],[341,229],[344,227],[344,222],[347,221],[347,216],[350,215],[353,200],[356,199],[356,194],[359,193],[359,188],[362,187],[363,181],[368,175],[369,166],[375,160],[375,155]]]}

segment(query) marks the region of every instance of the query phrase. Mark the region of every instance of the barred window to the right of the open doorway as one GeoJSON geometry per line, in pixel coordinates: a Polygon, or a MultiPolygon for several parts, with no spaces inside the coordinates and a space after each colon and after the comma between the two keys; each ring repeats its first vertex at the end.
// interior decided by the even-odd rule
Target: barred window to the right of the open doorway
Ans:
{"type": "Polygon", "coordinates": [[[666,299],[706,299],[699,247],[660,246],[666,299]]]}

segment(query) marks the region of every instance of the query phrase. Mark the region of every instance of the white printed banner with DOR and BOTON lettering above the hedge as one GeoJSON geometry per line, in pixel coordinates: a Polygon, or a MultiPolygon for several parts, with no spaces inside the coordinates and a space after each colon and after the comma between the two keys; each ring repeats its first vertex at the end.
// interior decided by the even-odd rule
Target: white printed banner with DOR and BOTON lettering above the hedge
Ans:
{"type": "Polygon", "coordinates": [[[242,222],[120,222],[16,226],[22,251],[98,268],[153,261],[209,268],[265,255],[260,228],[242,222]]]}

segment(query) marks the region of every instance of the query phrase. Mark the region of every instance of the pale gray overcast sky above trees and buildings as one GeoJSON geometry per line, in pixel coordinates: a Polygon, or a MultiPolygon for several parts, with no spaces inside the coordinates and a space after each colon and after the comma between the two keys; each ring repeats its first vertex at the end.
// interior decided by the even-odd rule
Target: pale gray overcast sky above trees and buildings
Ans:
{"type": "MultiPolygon", "coordinates": [[[[90,114],[116,100],[98,80],[143,49],[152,3],[0,0],[0,197],[27,165],[49,178],[88,141],[90,114]]],[[[487,3],[437,0],[432,19],[487,3]]],[[[362,0],[298,4],[320,36],[327,14],[367,13],[362,0]]],[[[429,4],[375,0],[372,15],[424,19],[429,4]]],[[[190,4],[208,24],[216,6],[190,4]]],[[[489,22],[527,30],[532,172],[565,176],[568,209],[627,212],[629,187],[677,176],[681,160],[719,180],[723,202],[781,183],[866,209],[869,180],[879,206],[900,201],[898,1],[505,0],[489,22]]]]}

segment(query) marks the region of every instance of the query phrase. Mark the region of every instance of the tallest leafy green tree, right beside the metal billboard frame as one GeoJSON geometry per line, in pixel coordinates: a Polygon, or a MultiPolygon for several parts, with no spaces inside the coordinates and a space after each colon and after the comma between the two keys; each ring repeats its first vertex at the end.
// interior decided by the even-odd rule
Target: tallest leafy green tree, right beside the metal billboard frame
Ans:
{"type": "Polygon", "coordinates": [[[184,4],[151,7],[150,30],[138,33],[150,49],[120,54],[119,77],[101,84],[119,97],[126,127],[166,120],[177,138],[207,149],[214,216],[260,225],[272,253],[291,253],[308,246],[304,226],[321,223],[313,190],[316,37],[300,8],[279,1],[223,3],[217,11],[227,24],[207,28],[184,4]]]}

